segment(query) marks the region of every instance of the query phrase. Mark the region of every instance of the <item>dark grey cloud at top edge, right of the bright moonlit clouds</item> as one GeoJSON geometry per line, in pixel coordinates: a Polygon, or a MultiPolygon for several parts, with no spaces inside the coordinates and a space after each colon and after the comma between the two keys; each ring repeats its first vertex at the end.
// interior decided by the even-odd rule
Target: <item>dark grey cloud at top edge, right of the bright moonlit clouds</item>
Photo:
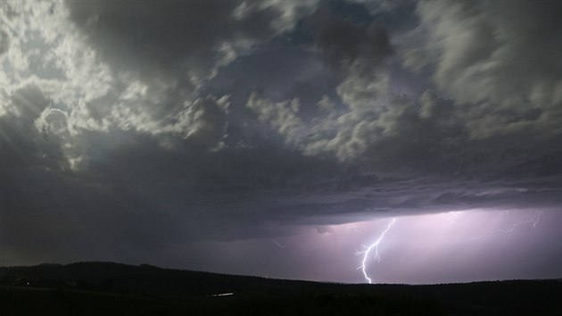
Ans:
{"type": "Polygon", "coordinates": [[[306,4],[243,1],[69,4],[71,19],[106,59],[121,66],[125,63],[134,71],[157,67],[195,85],[236,54],[290,29],[306,8],[306,4]]]}

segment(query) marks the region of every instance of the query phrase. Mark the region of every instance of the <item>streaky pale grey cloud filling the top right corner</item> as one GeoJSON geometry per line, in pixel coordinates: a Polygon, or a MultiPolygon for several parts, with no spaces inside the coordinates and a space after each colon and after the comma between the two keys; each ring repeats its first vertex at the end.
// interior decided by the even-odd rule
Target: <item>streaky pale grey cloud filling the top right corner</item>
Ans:
{"type": "Polygon", "coordinates": [[[462,115],[473,137],[559,133],[560,9],[556,1],[420,2],[420,24],[406,40],[425,44],[405,43],[402,54],[467,104],[462,115]]]}

